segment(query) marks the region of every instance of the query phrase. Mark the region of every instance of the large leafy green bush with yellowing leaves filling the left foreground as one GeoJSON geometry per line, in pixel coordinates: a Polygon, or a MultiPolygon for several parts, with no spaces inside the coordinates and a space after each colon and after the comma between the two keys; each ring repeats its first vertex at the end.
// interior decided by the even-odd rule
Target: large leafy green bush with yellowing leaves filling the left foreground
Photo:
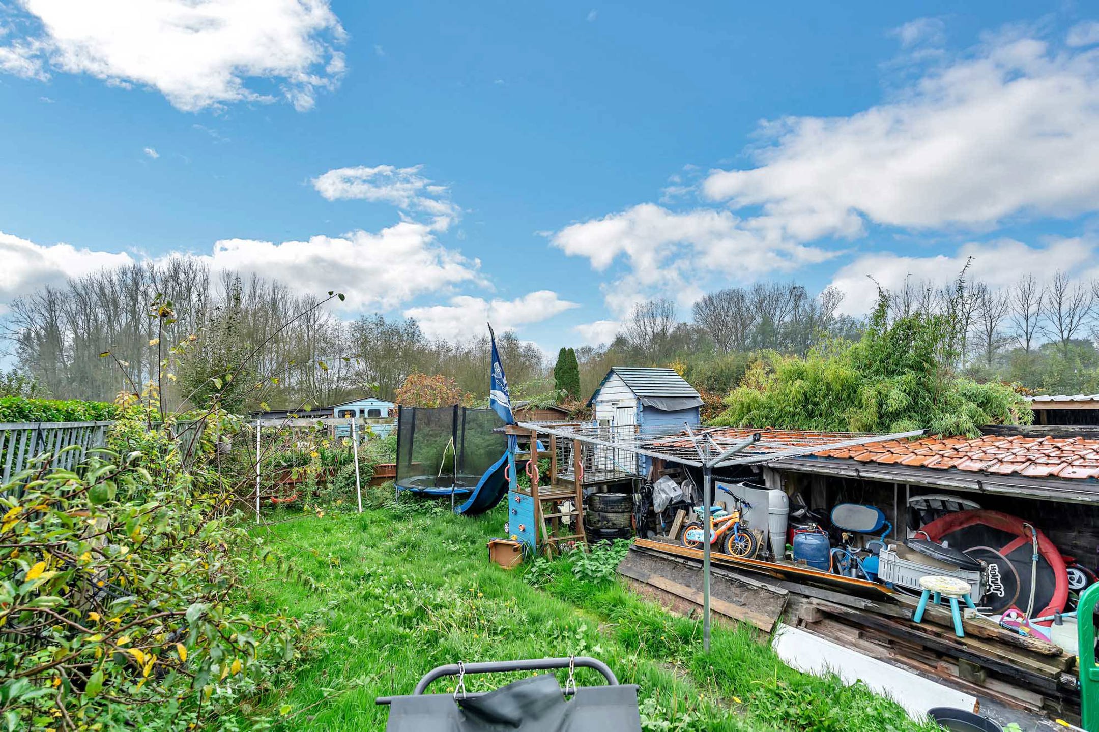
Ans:
{"type": "Polygon", "coordinates": [[[269,689],[297,622],[252,618],[236,528],[212,469],[131,414],[79,471],[51,457],[0,488],[0,712],[9,729],[187,730],[269,689]],[[187,464],[185,464],[185,462],[187,464]]]}

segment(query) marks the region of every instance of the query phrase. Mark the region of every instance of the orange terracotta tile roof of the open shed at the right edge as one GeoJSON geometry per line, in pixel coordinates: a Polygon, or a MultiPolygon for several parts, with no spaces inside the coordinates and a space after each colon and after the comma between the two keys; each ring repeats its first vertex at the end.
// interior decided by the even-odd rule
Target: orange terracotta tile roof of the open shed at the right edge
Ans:
{"type": "Polygon", "coordinates": [[[1099,478],[1099,439],[986,435],[975,439],[928,437],[821,450],[818,458],[955,469],[992,475],[1099,478]]]}

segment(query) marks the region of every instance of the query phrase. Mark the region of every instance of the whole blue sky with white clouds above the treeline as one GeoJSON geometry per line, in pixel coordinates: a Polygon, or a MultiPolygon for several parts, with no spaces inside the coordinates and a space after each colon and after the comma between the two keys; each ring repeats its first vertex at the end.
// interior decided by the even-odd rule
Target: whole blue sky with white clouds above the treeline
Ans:
{"type": "Polygon", "coordinates": [[[1091,277],[1085,4],[0,1],[0,309],[170,252],[550,351],[757,279],[1091,277]]]}

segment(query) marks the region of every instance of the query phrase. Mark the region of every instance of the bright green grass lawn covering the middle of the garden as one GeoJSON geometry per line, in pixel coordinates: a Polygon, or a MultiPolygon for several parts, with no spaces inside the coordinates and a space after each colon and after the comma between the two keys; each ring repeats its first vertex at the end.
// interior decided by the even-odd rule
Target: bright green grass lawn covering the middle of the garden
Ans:
{"type": "MultiPolygon", "coordinates": [[[[393,504],[390,495],[377,491],[363,515],[287,511],[256,529],[296,572],[251,565],[251,611],[303,618],[310,638],[304,661],[251,711],[286,712],[285,729],[382,730],[387,708],[374,698],[411,692],[436,665],[591,655],[641,687],[645,730],[921,729],[864,687],[788,668],[747,626],[714,628],[707,655],[700,622],[668,615],[614,578],[578,577],[568,559],[540,562],[533,573],[490,564],[485,544],[501,536],[502,509],[470,519],[451,515],[448,504],[393,504]]],[[[586,669],[578,677],[599,678],[586,669]]],[[[478,678],[467,688],[507,680],[478,678]]],[[[441,680],[432,690],[451,688],[441,680]]]]}

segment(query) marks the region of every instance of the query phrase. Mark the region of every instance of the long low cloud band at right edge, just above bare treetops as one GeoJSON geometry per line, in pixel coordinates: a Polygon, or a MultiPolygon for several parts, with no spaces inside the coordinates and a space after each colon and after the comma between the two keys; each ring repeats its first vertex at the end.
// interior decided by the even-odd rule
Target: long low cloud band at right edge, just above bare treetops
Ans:
{"type": "Polygon", "coordinates": [[[1086,274],[1096,263],[1095,249],[1094,241],[1075,238],[1044,247],[1031,247],[1014,239],[972,243],[959,247],[954,255],[934,257],[880,251],[863,255],[841,268],[832,285],[846,293],[841,309],[861,315],[869,312],[877,300],[877,290],[867,275],[892,292],[899,291],[908,278],[915,284],[942,285],[957,278],[972,257],[967,275],[989,286],[1002,288],[1028,274],[1039,280],[1050,280],[1058,270],[1074,275],[1086,274]]]}

